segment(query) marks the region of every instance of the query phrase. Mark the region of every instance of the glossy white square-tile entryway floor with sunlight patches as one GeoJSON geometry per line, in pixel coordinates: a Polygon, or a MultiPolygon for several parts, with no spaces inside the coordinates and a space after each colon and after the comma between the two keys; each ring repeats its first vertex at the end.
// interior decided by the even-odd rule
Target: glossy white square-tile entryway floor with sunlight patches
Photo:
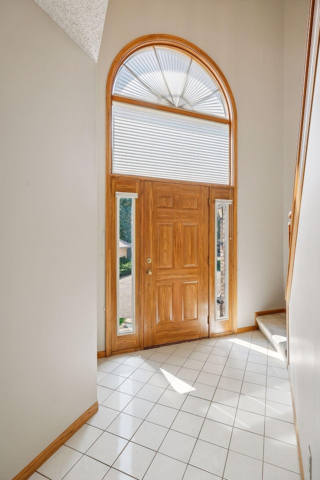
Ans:
{"type": "Polygon", "coordinates": [[[98,360],[99,411],[31,476],[300,480],[285,362],[259,331],[98,360]]]}

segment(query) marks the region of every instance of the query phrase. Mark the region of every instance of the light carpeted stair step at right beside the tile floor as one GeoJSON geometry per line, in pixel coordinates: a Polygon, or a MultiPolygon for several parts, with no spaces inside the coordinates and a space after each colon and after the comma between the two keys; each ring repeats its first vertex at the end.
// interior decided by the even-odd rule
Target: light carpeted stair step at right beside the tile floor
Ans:
{"type": "Polygon", "coordinates": [[[259,330],[286,359],[286,322],[285,312],[257,315],[256,322],[259,330]]]}

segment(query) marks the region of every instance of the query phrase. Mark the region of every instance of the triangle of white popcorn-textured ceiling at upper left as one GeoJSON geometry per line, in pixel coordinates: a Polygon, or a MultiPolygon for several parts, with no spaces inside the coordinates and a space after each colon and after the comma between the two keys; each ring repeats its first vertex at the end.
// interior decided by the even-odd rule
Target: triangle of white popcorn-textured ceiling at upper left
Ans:
{"type": "Polygon", "coordinates": [[[97,61],[108,0],[35,0],[97,61]]]}

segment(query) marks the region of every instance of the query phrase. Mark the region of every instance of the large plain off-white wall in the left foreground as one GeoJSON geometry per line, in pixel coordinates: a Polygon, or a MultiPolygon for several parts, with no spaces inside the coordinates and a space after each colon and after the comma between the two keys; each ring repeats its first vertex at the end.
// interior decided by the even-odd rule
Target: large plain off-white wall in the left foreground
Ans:
{"type": "Polygon", "coordinates": [[[0,2],[0,478],[96,401],[96,64],[0,2]]]}

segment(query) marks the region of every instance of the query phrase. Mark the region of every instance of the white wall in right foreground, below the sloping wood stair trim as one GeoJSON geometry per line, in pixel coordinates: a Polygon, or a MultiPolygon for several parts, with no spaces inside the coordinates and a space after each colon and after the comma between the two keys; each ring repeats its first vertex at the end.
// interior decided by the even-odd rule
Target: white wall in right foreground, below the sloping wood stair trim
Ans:
{"type": "Polygon", "coordinates": [[[315,80],[289,301],[289,367],[305,479],[320,478],[320,62],[315,80]]]}

